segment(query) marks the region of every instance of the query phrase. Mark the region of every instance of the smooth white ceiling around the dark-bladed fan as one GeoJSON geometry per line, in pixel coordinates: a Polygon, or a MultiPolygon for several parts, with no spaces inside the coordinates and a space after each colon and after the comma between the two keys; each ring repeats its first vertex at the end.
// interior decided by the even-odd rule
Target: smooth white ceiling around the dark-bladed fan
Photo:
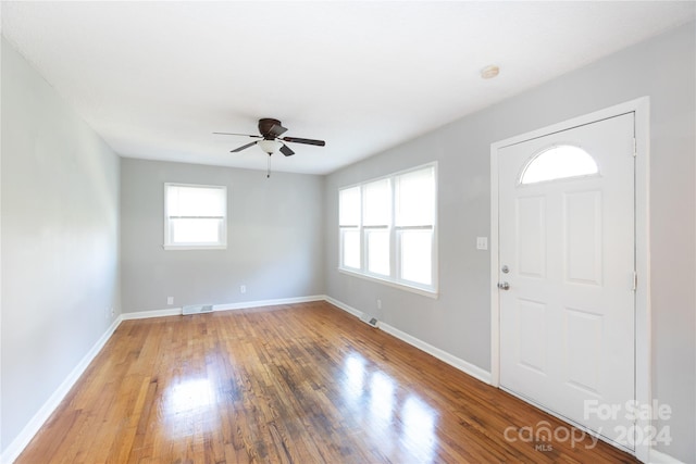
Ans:
{"type": "Polygon", "coordinates": [[[325,174],[693,21],[666,1],[10,2],[2,34],[121,155],[229,153],[275,117],[274,171],[325,174]],[[500,66],[492,80],[480,77],[500,66]]]}

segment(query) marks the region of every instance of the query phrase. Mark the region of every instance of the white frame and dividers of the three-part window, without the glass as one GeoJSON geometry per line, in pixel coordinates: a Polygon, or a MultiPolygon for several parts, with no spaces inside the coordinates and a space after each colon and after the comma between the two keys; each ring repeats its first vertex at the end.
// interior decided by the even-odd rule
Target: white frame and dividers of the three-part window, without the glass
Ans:
{"type": "Polygon", "coordinates": [[[391,287],[405,289],[411,292],[423,294],[431,298],[438,298],[438,221],[437,221],[437,206],[438,206],[438,183],[437,183],[437,162],[431,162],[419,166],[410,167],[407,170],[398,171],[386,176],[375,177],[363,180],[358,184],[351,184],[338,187],[337,189],[337,205],[338,205],[338,272],[351,275],[355,277],[364,278],[366,280],[378,281],[380,284],[388,285],[391,287]],[[433,170],[433,217],[432,225],[397,225],[396,224],[396,186],[399,176],[403,176],[410,173],[414,173],[422,170],[433,170]],[[364,209],[364,186],[388,179],[389,181],[389,196],[390,196],[390,217],[388,225],[384,226],[365,226],[363,225],[363,209],[364,209]],[[351,188],[359,188],[360,190],[360,214],[359,224],[357,225],[341,225],[340,224],[340,192],[351,188]],[[346,266],[344,264],[344,233],[347,230],[357,230],[360,237],[360,268],[346,266]],[[368,235],[375,230],[387,230],[389,234],[389,275],[377,274],[370,272],[368,261],[368,235]],[[431,285],[407,280],[401,278],[402,263],[401,263],[401,241],[402,233],[408,230],[431,230],[431,285]]]}

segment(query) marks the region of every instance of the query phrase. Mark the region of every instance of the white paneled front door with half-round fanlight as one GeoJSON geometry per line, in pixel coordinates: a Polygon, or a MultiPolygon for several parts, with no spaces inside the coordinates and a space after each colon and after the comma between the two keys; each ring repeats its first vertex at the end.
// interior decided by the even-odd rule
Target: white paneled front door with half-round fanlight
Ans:
{"type": "Polygon", "coordinates": [[[498,151],[500,386],[629,449],[634,162],[633,113],[498,151]]]}

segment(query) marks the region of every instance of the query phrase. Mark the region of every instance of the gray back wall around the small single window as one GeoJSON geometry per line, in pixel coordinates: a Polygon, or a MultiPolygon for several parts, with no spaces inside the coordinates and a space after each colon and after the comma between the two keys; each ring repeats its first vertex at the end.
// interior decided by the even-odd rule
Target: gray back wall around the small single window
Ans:
{"type": "Polygon", "coordinates": [[[320,176],[122,159],[123,310],[323,294],[322,212],[320,176]],[[164,183],[227,186],[226,250],[162,248],[164,183]]]}

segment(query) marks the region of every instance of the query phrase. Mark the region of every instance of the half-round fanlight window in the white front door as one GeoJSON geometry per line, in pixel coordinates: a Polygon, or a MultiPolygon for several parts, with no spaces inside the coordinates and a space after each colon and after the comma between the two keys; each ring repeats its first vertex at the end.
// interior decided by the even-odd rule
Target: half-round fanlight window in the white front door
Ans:
{"type": "Polygon", "coordinates": [[[572,145],[560,145],[542,150],[524,166],[520,184],[536,184],[598,174],[594,158],[572,145]]]}

